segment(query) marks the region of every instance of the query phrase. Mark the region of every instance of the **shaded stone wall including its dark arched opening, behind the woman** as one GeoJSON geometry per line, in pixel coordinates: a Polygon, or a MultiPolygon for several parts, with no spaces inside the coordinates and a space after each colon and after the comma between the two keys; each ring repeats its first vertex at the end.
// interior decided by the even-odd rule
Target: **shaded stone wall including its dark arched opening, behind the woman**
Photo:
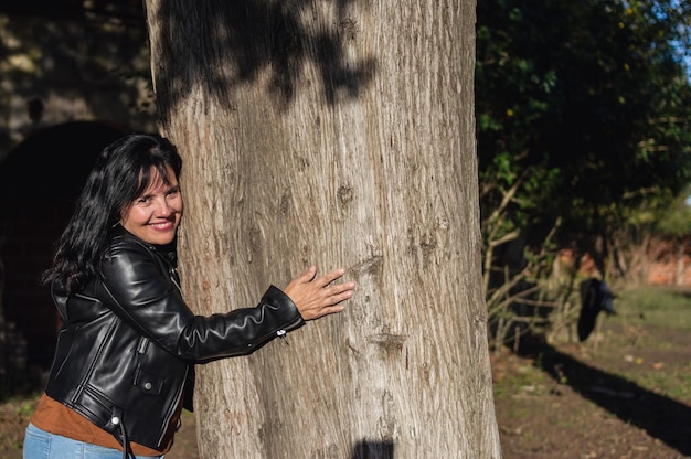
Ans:
{"type": "Polygon", "coordinates": [[[4,382],[28,365],[50,365],[59,318],[39,278],[96,154],[123,132],[156,130],[141,8],[129,0],[0,4],[4,382]]]}

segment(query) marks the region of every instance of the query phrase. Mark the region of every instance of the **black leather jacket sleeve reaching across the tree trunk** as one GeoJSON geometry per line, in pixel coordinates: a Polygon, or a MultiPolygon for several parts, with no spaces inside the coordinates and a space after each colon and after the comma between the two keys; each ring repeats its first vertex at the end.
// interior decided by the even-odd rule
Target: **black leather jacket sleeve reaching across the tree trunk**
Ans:
{"type": "Polygon", "coordinates": [[[161,348],[195,363],[249,354],[305,323],[295,303],[270,286],[254,308],[210,317],[185,305],[171,273],[150,248],[131,242],[110,247],[103,264],[106,305],[161,348]]]}

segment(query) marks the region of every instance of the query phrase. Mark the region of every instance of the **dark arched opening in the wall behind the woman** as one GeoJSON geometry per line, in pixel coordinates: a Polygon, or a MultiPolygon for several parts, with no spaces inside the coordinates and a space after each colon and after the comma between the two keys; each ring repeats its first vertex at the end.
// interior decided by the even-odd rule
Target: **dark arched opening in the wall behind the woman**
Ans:
{"type": "Polygon", "coordinates": [[[39,279],[96,156],[123,134],[67,122],[33,132],[0,163],[0,373],[50,366],[59,317],[39,279]]]}

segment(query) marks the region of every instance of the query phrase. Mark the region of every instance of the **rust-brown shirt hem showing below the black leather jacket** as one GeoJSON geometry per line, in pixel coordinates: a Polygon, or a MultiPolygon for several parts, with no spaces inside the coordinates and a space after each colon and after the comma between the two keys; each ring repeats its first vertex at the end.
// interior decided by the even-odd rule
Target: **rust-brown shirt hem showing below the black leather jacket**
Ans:
{"type": "MultiPolygon", "coordinates": [[[[182,404],[176,410],[174,416],[170,420],[168,431],[163,438],[161,449],[152,449],[143,445],[131,442],[130,447],[136,456],[161,456],[170,451],[173,444],[173,436],[182,412],[182,404]]],[[[39,399],[39,406],[31,417],[31,424],[41,430],[49,431],[63,437],[72,438],[77,441],[84,441],[92,445],[98,445],[106,448],[123,450],[123,445],[111,434],[95,426],[87,418],[54,401],[43,394],[39,399]]]]}

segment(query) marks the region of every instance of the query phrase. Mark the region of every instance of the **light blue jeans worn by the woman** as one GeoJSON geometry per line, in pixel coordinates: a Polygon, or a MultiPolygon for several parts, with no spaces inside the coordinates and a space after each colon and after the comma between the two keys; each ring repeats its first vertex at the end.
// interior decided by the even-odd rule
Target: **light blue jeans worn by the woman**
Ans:
{"type": "MultiPolygon", "coordinates": [[[[130,456],[130,458],[134,456],[130,456]]],[[[33,424],[24,435],[24,459],[123,459],[123,451],[85,444],[41,430],[33,424]]],[[[163,459],[163,456],[137,456],[137,459],[163,459]]]]}

